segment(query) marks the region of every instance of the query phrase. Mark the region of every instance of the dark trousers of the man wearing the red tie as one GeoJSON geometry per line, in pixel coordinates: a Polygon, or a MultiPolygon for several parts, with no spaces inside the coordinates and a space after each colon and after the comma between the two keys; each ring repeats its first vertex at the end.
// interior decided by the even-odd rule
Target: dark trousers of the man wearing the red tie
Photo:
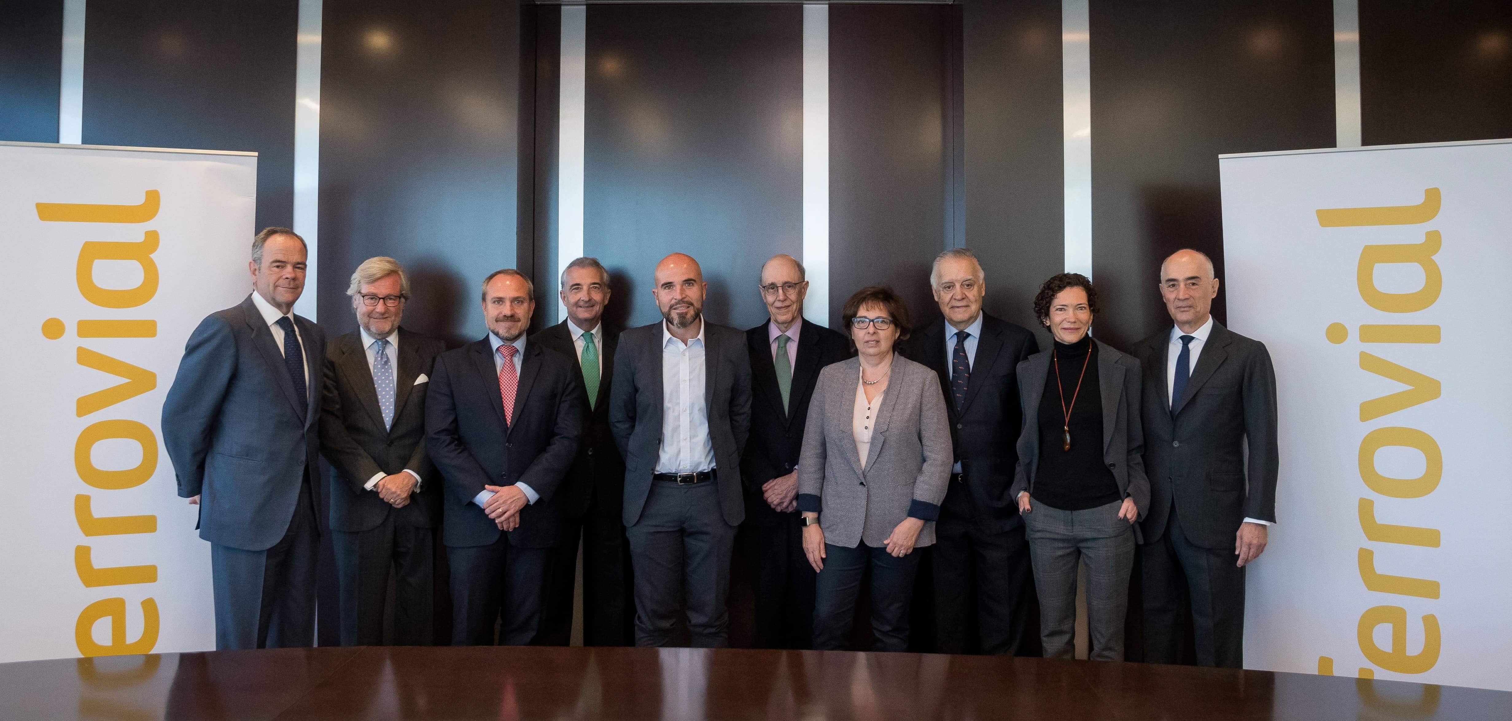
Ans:
{"type": "Polygon", "coordinates": [[[541,621],[549,549],[520,549],[510,534],[488,546],[448,546],[452,573],[452,645],[528,645],[541,621]]]}

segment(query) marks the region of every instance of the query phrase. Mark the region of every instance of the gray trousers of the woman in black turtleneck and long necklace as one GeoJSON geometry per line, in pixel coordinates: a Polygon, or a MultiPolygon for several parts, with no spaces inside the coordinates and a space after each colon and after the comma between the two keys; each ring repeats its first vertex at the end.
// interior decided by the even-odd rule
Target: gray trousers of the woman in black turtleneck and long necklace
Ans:
{"type": "Polygon", "coordinates": [[[1134,528],[1119,518],[1117,500],[1086,511],[1061,511],[1033,500],[1024,514],[1040,599],[1045,658],[1069,659],[1077,650],[1077,567],[1087,561],[1087,630],[1092,661],[1123,661],[1134,528]]]}

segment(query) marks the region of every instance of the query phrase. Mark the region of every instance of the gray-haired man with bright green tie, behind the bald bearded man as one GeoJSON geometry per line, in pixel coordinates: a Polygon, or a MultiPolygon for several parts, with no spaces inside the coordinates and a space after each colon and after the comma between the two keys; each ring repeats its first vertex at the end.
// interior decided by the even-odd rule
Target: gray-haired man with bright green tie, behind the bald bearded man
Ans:
{"type": "Polygon", "coordinates": [[[567,320],[531,337],[578,358],[584,395],[582,437],[572,472],[556,493],[562,499],[561,543],[546,562],[546,594],[535,642],[572,641],[573,585],[582,541],[582,642],[632,645],[635,603],[631,597],[629,546],[624,540],[624,461],[609,432],[609,382],[617,340],[603,330],[609,272],[597,258],[576,258],[561,275],[559,298],[567,320]]]}

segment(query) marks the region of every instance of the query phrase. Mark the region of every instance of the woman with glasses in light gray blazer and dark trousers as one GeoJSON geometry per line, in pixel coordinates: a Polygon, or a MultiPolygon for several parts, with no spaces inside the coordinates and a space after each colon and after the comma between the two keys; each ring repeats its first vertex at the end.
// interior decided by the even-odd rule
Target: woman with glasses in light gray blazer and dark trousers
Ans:
{"type": "Polygon", "coordinates": [[[945,396],[933,370],[892,349],[909,337],[892,289],[859,290],[844,317],[860,355],[820,372],[798,460],[803,552],[818,571],[813,647],[845,645],[869,567],[874,650],[903,651],[913,549],[934,543],[950,482],[945,396]]]}

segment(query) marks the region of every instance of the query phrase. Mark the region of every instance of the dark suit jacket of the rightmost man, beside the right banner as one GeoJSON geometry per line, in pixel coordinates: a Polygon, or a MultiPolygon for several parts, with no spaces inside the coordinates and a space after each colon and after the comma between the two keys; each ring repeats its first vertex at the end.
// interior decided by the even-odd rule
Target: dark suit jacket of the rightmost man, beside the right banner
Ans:
{"type": "Polygon", "coordinates": [[[1191,543],[1232,549],[1246,517],[1276,520],[1276,370],[1264,343],[1214,320],[1187,390],[1172,408],[1169,340],[1166,328],[1134,348],[1145,364],[1145,469],[1152,496],[1145,543],[1166,534],[1175,505],[1191,543]]]}

